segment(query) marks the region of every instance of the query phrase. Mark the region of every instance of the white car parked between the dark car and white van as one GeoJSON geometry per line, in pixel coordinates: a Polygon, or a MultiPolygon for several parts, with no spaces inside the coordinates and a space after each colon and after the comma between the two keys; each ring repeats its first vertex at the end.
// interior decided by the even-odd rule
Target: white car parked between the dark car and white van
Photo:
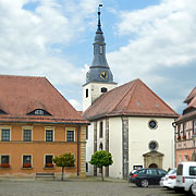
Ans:
{"type": "Polygon", "coordinates": [[[176,169],[171,169],[163,177],[161,177],[160,186],[168,189],[174,189],[176,177],[176,169]]]}

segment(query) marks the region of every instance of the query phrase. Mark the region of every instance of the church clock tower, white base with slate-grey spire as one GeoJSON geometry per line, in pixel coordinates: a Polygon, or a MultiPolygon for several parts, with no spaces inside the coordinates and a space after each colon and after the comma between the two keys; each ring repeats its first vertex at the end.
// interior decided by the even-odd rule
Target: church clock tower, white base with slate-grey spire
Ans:
{"type": "Polygon", "coordinates": [[[98,8],[98,27],[94,41],[94,60],[86,74],[86,84],[83,85],[83,111],[103,93],[117,87],[112,72],[106,59],[106,42],[101,29],[100,7],[98,8]]]}

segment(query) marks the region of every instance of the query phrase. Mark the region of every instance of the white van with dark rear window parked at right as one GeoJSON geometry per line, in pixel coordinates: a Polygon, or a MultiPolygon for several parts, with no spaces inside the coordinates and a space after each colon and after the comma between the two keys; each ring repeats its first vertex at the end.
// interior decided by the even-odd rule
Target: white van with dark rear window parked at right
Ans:
{"type": "Polygon", "coordinates": [[[189,192],[193,195],[193,184],[196,180],[196,161],[182,162],[176,169],[175,192],[189,192]]]}

